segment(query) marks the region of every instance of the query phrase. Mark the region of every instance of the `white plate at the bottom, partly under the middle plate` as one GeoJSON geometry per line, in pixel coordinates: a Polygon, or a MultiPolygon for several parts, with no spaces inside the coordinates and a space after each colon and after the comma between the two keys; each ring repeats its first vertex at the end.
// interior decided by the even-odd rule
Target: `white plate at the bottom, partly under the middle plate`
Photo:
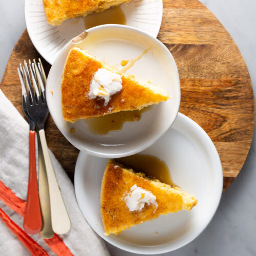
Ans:
{"type": "Polygon", "coordinates": [[[219,155],[203,129],[180,113],[172,127],[141,154],[163,160],[174,183],[195,195],[198,204],[191,211],[161,216],[118,236],[105,237],[100,217],[100,186],[107,160],[80,152],[75,168],[78,205],[99,236],[123,250],[156,254],[178,249],[199,236],[219,205],[223,187],[219,155]]]}

